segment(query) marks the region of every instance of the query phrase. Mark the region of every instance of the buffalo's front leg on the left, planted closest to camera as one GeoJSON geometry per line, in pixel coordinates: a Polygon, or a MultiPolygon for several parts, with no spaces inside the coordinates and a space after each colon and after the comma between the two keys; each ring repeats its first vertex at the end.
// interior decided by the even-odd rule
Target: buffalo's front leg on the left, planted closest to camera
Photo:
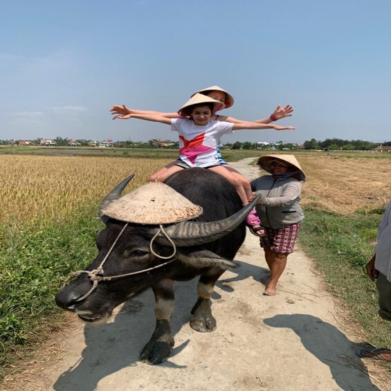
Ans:
{"type": "Polygon", "coordinates": [[[161,364],[170,356],[174,346],[171,317],[174,312],[174,281],[161,280],[152,287],[155,295],[156,327],[151,339],[140,354],[140,361],[151,365],[161,364]]]}

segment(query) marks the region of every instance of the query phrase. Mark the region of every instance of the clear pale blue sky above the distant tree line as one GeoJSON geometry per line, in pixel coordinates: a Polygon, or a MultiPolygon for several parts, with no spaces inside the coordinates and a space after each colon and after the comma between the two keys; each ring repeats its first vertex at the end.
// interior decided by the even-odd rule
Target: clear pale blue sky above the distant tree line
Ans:
{"type": "Polygon", "coordinates": [[[215,84],[221,114],[295,110],[294,131],[225,143],[391,140],[391,2],[0,0],[0,139],[175,140],[109,109],[176,111],[215,84]]]}

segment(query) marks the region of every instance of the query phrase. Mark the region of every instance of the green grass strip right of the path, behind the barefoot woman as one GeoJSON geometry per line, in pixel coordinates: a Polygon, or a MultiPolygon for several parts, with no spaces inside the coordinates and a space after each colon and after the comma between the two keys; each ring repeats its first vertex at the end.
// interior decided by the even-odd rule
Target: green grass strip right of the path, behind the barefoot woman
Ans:
{"type": "Polygon", "coordinates": [[[380,219],[379,210],[343,217],[307,208],[299,240],[367,334],[367,343],[391,347],[391,324],[380,318],[376,286],[365,273],[380,219]]]}

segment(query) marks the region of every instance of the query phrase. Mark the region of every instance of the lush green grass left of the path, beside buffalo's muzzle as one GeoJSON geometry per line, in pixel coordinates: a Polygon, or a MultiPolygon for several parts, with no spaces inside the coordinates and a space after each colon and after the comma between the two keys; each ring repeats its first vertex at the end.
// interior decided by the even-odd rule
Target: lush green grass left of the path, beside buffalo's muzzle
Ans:
{"type": "Polygon", "coordinates": [[[55,293],[66,275],[95,257],[103,227],[96,215],[91,208],[62,225],[0,228],[0,378],[64,321],[55,293]]]}

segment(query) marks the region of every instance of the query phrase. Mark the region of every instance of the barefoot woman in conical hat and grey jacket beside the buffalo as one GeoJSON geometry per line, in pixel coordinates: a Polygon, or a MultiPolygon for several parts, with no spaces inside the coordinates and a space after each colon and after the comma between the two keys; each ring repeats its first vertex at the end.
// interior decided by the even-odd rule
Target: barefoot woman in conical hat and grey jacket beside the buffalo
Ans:
{"type": "Polygon", "coordinates": [[[293,155],[262,156],[257,163],[271,175],[251,181],[251,188],[261,194],[257,215],[265,228],[260,237],[270,276],[262,278],[266,284],[264,295],[275,295],[278,280],[287,266],[287,257],[293,253],[304,213],[300,208],[300,194],[305,174],[293,155]]]}

